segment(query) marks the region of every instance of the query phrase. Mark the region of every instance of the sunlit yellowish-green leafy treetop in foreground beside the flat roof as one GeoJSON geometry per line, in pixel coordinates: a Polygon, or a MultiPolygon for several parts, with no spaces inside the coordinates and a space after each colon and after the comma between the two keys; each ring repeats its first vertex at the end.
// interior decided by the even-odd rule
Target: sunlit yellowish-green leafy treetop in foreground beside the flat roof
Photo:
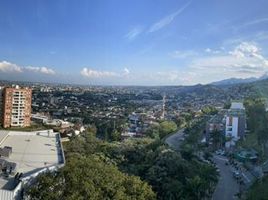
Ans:
{"type": "Polygon", "coordinates": [[[123,174],[97,156],[69,158],[58,174],[39,176],[37,183],[26,194],[36,200],[153,200],[156,197],[146,182],[123,174]]]}

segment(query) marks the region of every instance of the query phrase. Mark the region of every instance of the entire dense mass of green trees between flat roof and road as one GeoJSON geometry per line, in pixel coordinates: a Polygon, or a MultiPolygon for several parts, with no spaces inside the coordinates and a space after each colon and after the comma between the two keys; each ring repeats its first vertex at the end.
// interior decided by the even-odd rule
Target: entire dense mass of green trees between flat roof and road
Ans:
{"type": "Polygon", "coordinates": [[[152,139],[110,143],[97,139],[93,127],[65,145],[66,166],[40,176],[27,193],[33,199],[207,198],[217,173],[194,154],[203,125],[204,119],[189,124],[182,154],[160,140],[177,130],[174,122],[153,126],[152,139]]]}

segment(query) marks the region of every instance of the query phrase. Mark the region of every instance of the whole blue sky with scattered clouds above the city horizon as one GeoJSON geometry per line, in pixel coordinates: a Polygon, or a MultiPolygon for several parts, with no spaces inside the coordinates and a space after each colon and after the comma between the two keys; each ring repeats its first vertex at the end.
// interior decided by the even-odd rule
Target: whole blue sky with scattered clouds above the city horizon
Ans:
{"type": "Polygon", "coordinates": [[[268,71],[266,0],[0,0],[0,79],[191,85],[268,71]]]}

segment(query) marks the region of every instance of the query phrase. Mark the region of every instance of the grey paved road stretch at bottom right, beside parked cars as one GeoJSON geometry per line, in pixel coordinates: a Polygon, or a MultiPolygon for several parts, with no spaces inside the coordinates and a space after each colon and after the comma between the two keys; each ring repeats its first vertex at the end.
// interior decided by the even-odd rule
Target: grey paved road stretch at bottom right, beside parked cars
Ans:
{"type": "Polygon", "coordinates": [[[213,200],[232,200],[237,199],[235,194],[239,192],[239,185],[232,175],[230,165],[225,165],[227,159],[222,156],[214,155],[213,159],[220,169],[219,182],[212,196],[213,200]]]}

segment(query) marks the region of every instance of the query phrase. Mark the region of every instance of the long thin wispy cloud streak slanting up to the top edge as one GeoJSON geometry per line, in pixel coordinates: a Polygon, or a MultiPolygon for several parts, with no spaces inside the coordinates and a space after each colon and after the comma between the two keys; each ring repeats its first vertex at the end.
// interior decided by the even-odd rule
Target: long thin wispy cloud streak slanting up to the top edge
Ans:
{"type": "Polygon", "coordinates": [[[165,26],[169,25],[179,14],[181,14],[189,5],[190,5],[191,1],[189,1],[187,4],[185,4],[184,6],[182,6],[180,9],[178,9],[176,12],[162,18],[161,20],[159,20],[158,22],[156,22],[155,24],[153,24],[150,29],[149,29],[149,33],[158,31],[162,28],[164,28],[165,26]]]}

